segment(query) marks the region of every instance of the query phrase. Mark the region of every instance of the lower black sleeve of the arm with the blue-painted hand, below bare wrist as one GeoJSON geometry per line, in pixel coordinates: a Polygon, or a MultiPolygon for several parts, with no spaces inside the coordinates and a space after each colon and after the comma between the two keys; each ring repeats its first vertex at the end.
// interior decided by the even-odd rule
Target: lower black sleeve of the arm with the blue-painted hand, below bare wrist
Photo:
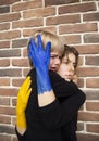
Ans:
{"type": "Polygon", "coordinates": [[[78,90],[62,103],[55,100],[47,106],[39,107],[39,115],[45,128],[52,130],[66,125],[84,103],[85,99],[85,94],[78,90]]]}

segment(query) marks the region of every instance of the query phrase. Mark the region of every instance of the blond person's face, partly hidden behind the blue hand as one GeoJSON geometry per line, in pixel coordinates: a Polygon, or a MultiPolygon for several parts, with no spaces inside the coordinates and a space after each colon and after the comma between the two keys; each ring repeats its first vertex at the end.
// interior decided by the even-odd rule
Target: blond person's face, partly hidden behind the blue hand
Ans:
{"type": "Polygon", "coordinates": [[[60,53],[58,51],[53,51],[50,53],[50,65],[49,69],[57,72],[61,64],[60,53]]]}

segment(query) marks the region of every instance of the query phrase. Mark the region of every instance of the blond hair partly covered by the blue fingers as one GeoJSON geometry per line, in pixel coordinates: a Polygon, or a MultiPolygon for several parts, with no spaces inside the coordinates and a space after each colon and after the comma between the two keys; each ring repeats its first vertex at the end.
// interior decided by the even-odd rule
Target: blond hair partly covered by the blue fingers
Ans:
{"type": "MultiPolygon", "coordinates": [[[[60,53],[59,55],[62,56],[63,51],[64,51],[64,46],[62,44],[62,41],[59,38],[59,36],[54,35],[50,31],[47,31],[47,30],[36,30],[32,35],[32,38],[35,40],[35,42],[37,42],[37,35],[41,36],[44,49],[46,48],[47,42],[50,41],[51,42],[51,52],[58,51],[60,53]]],[[[28,41],[28,43],[29,43],[29,41],[28,41]]]]}

